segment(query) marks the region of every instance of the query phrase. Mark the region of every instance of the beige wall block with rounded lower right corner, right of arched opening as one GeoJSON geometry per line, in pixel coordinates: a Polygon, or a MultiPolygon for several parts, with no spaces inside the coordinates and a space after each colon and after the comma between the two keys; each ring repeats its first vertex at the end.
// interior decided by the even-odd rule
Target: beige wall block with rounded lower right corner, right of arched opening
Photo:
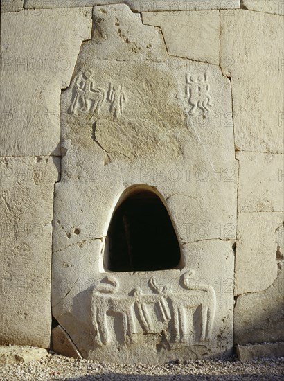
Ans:
{"type": "Polygon", "coordinates": [[[259,292],[278,276],[284,252],[284,212],[238,213],[235,294],[259,292]]]}

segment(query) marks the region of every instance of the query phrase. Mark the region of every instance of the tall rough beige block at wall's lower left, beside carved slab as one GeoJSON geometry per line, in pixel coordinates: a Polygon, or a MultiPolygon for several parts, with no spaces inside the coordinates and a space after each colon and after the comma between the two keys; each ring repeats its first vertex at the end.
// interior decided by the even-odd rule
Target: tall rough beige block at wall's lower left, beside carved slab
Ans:
{"type": "Polygon", "coordinates": [[[49,347],[53,185],[60,160],[0,158],[1,344],[49,347]]]}

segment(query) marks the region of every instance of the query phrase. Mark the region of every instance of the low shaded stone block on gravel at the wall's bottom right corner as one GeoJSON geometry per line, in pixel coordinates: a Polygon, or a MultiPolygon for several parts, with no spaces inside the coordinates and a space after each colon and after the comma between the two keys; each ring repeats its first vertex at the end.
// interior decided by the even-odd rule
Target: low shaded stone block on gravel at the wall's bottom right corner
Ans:
{"type": "Polygon", "coordinates": [[[262,357],[282,357],[284,354],[284,343],[238,345],[236,349],[238,359],[241,362],[248,362],[262,357]]]}

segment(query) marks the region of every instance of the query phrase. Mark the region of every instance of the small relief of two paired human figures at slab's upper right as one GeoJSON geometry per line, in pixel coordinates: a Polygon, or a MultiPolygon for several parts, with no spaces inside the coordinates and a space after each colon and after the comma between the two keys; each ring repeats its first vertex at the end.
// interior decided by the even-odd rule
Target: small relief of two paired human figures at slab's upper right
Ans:
{"type": "Polygon", "coordinates": [[[186,96],[190,106],[189,115],[195,114],[197,107],[202,110],[204,116],[210,112],[212,99],[209,91],[207,73],[204,73],[204,76],[193,76],[191,74],[186,76],[186,96]]]}

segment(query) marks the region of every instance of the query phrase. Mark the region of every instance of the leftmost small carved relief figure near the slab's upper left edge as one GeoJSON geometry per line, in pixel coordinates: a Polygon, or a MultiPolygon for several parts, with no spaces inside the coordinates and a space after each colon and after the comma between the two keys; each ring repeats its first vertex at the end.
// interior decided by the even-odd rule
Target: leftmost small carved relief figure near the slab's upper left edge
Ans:
{"type": "Polygon", "coordinates": [[[95,87],[91,78],[91,71],[85,71],[74,80],[73,98],[69,107],[70,114],[76,114],[78,109],[87,112],[98,113],[105,99],[105,91],[95,87]]]}

